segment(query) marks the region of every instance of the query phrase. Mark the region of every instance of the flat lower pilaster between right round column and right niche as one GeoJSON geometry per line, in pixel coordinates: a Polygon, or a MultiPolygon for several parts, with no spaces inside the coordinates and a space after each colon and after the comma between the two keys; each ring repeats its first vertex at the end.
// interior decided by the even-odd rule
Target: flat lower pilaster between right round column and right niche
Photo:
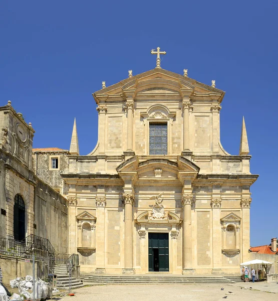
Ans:
{"type": "Polygon", "coordinates": [[[220,224],[221,199],[211,199],[212,208],[212,274],[222,273],[222,233],[220,224]]]}

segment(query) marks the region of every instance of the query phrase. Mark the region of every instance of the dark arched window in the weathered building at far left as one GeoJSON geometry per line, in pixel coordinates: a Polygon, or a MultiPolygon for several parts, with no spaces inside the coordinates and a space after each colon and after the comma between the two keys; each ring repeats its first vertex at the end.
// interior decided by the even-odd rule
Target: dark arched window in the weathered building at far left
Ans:
{"type": "Polygon", "coordinates": [[[25,204],[21,195],[15,196],[14,205],[14,238],[22,240],[25,238],[25,204]]]}

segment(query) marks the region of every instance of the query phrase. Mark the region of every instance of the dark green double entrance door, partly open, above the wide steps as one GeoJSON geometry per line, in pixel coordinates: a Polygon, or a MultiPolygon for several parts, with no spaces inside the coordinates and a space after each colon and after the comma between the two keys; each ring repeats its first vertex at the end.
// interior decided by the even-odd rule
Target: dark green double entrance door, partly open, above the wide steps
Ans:
{"type": "Polygon", "coordinates": [[[149,233],[149,271],[169,271],[168,233],[149,233]]]}

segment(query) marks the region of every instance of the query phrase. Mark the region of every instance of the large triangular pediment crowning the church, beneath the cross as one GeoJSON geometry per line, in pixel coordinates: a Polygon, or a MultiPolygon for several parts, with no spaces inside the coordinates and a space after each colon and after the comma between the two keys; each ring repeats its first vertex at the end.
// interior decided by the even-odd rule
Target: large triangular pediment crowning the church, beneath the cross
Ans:
{"type": "Polygon", "coordinates": [[[133,97],[153,94],[183,97],[184,93],[188,97],[193,97],[193,95],[197,97],[196,94],[203,97],[205,94],[213,94],[214,97],[218,95],[219,100],[222,100],[224,95],[223,91],[197,82],[192,78],[155,68],[99,90],[93,96],[98,103],[100,99],[105,99],[105,101],[109,101],[109,98],[111,100],[112,98],[113,100],[125,99],[130,93],[133,97]]]}

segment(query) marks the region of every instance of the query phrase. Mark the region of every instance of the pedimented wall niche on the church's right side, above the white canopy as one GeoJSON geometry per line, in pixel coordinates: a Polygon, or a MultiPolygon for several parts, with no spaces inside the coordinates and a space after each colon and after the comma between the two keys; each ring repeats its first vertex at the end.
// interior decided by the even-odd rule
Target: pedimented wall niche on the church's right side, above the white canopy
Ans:
{"type": "Polygon", "coordinates": [[[240,217],[230,213],[221,219],[222,253],[233,257],[240,252],[240,217]]]}

